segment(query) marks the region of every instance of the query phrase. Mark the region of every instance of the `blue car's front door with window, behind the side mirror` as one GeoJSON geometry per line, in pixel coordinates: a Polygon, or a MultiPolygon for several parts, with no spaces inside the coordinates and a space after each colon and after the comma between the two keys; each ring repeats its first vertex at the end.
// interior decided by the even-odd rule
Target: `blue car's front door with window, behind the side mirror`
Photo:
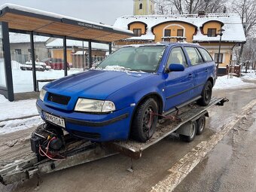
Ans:
{"type": "Polygon", "coordinates": [[[169,72],[166,75],[166,106],[165,111],[169,111],[191,99],[193,89],[193,75],[182,47],[172,47],[166,62],[166,69],[170,64],[184,65],[184,72],[169,72]]]}

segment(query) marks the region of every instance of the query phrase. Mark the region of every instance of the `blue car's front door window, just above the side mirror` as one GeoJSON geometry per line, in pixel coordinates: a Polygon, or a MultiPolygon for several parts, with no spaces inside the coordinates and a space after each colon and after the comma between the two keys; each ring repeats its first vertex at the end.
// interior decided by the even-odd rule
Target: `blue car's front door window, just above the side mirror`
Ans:
{"type": "Polygon", "coordinates": [[[182,64],[184,67],[187,67],[187,61],[181,47],[172,48],[167,61],[167,68],[169,67],[169,64],[182,64]]]}

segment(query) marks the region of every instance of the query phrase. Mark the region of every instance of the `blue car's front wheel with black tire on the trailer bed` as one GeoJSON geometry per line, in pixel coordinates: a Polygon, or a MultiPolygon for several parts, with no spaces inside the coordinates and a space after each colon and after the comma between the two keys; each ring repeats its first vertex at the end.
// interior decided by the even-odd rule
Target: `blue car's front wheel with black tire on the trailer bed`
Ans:
{"type": "Polygon", "coordinates": [[[157,102],[153,98],[146,99],[136,108],[131,126],[131,138],[138,142],[148,141],[156,130],[158,116],[150,116],[150,110],[158,113],[157,102]]]}

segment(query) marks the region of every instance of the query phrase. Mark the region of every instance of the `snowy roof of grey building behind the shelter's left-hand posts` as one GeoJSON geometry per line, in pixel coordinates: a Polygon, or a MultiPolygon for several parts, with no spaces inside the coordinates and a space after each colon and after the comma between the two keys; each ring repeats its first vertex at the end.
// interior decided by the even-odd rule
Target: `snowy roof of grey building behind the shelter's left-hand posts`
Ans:
{"type": "MultiPolygon", "coordinates": [[[[17,43],[30,43],[30,35],[20,34],[20,33],[9,33],[10,43],[17,44],[17,43]]],[[[37,36],[34,35],[34,42],[46,42],[49,37],[37,36]]]]}

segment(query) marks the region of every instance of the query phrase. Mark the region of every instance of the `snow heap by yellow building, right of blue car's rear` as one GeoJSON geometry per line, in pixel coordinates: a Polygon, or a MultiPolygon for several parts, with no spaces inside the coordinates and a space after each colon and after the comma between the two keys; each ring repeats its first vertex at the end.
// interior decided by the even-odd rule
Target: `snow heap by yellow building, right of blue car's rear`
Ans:
{"type": "Polygon", "coordinates": [[[237,88],[245,88],[245,87],[254,87],[255,84],[251,83],[245,83],[242,81],[241,78],[232,77],[228,78],[227,75],[224,75],[222,77],[218,77],[215,87],[213,89],[215,90],[224,90],[224,89],[237,89],[237,88]]]}

